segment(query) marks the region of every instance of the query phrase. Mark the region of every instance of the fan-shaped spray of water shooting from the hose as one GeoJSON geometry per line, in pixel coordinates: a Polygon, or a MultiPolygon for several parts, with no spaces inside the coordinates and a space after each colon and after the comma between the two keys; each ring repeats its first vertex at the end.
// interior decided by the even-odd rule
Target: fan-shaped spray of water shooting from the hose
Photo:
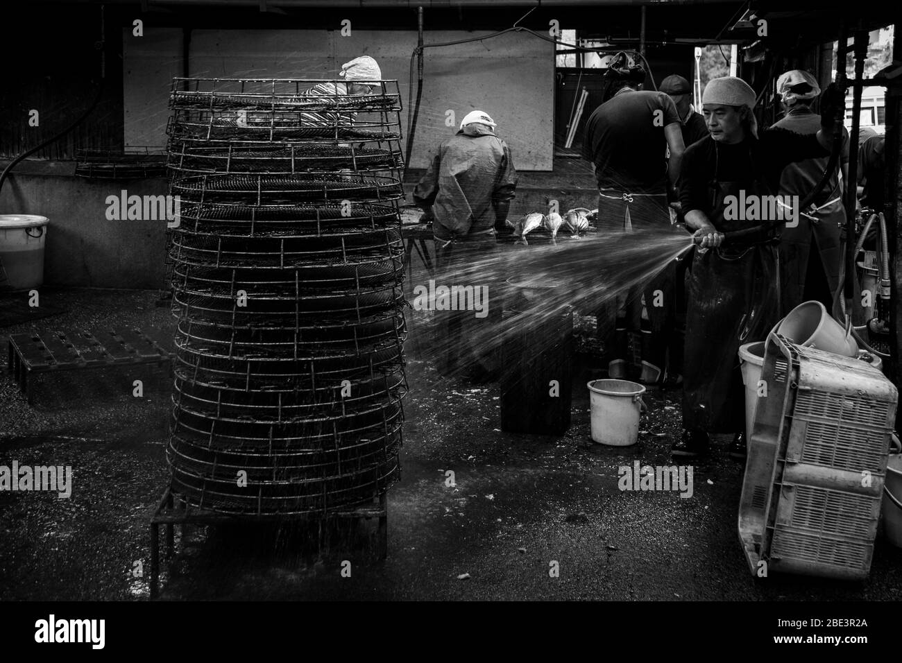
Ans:
{"type": "MultiPolygon", "coordinates": [[[[497,362],[511,333],[540,329],[544,322],[571,315],[575,309],[592,315],[618,297],[635,295],[689,246],[689,235],[669,229],[599,233],[557,245],[474,253],[452,269],[438,271],[437,284],[472,286],[474,290],[484,287],[489,296],[490,313],[484,318],[477,318],[474,311],[455,312],[464,320],[456,341],[457,355],[464,363],[446,373],[468,372],[473,367],[466,364],[466,358],[493,357],[489,363],[497,362]],[[506,309],[503,317],[501,308],[506,309]]],[[[600,325],[604,322],[599,321],[600,325]]],[[[446,321],[439,318],[437,324],[446,321]]],[[[531,340],[535,352],[560,341],[553,337],[531,340]]],[[[442,364],[447,350],[439,340],[423,358],[442,364]]]]}

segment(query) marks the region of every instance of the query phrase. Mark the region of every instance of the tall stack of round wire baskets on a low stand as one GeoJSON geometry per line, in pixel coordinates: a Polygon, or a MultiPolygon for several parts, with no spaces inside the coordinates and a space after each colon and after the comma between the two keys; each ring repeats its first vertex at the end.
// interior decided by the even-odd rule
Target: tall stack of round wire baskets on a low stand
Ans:
{"type": "Polygon", "coordinates": [[[324,514],[399,478],[400,95],[344,85],[173,81],[167,457],[198,508],[324,514]]]}

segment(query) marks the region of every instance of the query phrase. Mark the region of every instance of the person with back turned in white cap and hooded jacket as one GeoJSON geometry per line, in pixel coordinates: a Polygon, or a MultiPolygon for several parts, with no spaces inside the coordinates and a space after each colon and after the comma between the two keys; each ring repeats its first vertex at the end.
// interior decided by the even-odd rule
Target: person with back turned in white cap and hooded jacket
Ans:
{"type": "MultiPolygon", "coordinates": [[[[498,249],[496,233],[508,232],[505,222],[517,188],[517,171],[507,143],[495,134],[497,124],[481,110],[464,117],[456,134],[443,141],[428,170],[413,189],[413,200],[432,220],[436,244],[437,281],[451,285],[488,285],[497,298],[500,284],[472,281],[465,268],[498,249]]],[[[487,318],[473,311],[444,311],[438,343],[444,356],[438,362],[446,374],[464,372],[476,382],[492,380],[498,372],[498,353],[486,351],[472,339],[502,315],[499,299],[492,300],[487,318]]]]}

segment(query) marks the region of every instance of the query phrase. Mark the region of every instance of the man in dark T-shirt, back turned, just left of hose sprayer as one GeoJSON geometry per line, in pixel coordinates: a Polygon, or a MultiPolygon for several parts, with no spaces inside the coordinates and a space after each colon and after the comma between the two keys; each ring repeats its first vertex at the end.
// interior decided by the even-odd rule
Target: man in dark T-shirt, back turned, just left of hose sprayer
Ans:
{"type": "MultiPolygon", "coordinates": [[[[683,138],[674,102],[663,92],[641,91],[646,72],[618,53],[605,72],[606,100],[585,124],[583,156],[592,161],[598,181],[600,232],[669,230],[667,176],[676,182],[683,156],[683,138]],[[665,160],[670,151],[669,169],[665,160]]],[[[674,266],[668,266],[649,283],[618,297],[616,309],[598,312],[599,330],[611,346],[608,374],[628,375],[628,337],[640,338],[640,382],[660,382],[664,376],[667,337],[673,333],[674,266]],[[645,296],[646,318],[642,316],[645,296]],[[616,317],[612,335],[605,335],[605,321],[616,317]]],[[[635,369],[633,369],[635,373],[635,369]]]]}

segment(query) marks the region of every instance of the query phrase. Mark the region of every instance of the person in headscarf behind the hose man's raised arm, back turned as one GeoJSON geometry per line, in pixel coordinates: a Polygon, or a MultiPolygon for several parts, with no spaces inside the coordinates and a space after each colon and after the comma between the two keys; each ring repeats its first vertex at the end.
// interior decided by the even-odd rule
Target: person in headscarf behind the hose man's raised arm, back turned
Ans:
{"type": "MultiPolygon", "coordinates": [[[[777,79],[786,116],[775,128],[796,134],[816,134],[821,116],[811,109],[821,94],[817,80],[807,71],[792,69],[777,79]]],[[[824,174],[828,157],[790,163],[780,176],[779,193],[802,199],[815,189],[824,174]]],[[[843,143],[842,168],[834,172],[808,209],[798,210],[798,224],[787,226],[780,238],[780,302],[785,316],[803,301],[815,299],[833,310],[833,294],[839,287],[840,235],[845,226],[842,206],[844,182],[848,180],[849,144],[843,143]],[[841,175],[842,173],[842,175],[841,175]]],[[[784,203],[785,204],[785,203],[784,203]]]]}

